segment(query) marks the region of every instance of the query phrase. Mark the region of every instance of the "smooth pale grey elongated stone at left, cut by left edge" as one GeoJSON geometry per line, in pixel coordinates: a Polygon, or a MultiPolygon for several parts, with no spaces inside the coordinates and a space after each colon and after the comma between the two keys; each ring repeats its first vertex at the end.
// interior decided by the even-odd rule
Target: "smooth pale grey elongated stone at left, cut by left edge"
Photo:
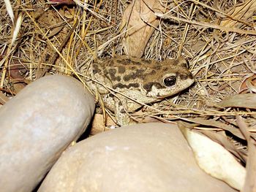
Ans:
{"type": "Polygon", "coordinates": [[[89,125],[94,99],[72,77],[27,85],[0,109],[0,191],[31,191],[89,125]]]}

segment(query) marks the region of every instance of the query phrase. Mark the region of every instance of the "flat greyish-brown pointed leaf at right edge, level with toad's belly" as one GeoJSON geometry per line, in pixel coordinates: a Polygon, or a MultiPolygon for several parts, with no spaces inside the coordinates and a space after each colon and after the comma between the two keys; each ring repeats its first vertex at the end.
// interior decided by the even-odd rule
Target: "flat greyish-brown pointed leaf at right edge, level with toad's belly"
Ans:
{"type": "Polygon", "coordinates": [[[256,109],[256,94],[246,93],[230,96],[229,98],[220,101],[219,106],[256,109]]]}

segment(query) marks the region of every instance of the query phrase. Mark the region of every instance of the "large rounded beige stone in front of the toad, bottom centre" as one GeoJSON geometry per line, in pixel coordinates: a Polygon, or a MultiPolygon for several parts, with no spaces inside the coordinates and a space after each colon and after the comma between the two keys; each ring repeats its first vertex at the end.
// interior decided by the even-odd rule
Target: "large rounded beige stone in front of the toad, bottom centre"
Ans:
{"type": "Polygon", "coordinates": [[[97,134],[70,147],[39,191],[235,190],[197,166],[177,126],[148,123],[97,134]]]}

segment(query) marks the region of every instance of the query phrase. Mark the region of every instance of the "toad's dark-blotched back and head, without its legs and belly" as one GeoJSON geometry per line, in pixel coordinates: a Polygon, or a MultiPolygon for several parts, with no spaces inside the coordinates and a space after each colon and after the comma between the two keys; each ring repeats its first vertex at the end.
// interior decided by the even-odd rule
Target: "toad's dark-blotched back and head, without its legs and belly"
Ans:
{"type": "Polygon", "coordinates": [[[171,96],[194,82],[184,58],[162,62],[121,55],[92,65],[96,80],[119,92],[138,90],[154,98],[171,96]]]}

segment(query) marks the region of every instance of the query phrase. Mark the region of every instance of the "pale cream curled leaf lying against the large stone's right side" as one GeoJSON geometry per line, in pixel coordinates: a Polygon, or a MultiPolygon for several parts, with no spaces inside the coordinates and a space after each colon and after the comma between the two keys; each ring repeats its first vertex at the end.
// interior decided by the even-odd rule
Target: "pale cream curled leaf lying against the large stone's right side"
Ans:
{"type": "Polygon", "coordinates": [[[191,130],[178,123],[182,134],[187,139],[195,155],[197,164],[206,173],[228,185],[241,190],[244,185],[246,171],[241,164],[222,145],[212,141],[198,131],[191,130]]]}

